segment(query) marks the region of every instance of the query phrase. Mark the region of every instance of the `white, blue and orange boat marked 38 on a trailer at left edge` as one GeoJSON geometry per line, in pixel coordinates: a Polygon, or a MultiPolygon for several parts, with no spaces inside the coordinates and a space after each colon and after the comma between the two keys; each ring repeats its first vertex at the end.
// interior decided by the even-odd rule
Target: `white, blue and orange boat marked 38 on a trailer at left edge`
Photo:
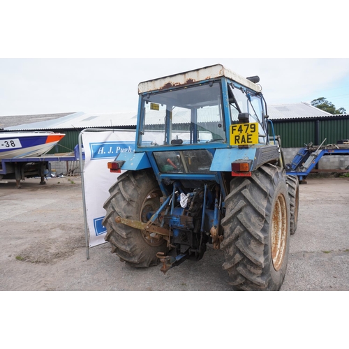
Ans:
{"type": "Polygon", "coordinates": [[[64,136],[64,133],[40,131],[2,132],[0,133],[0,159],[43,156],[64,136]]]}

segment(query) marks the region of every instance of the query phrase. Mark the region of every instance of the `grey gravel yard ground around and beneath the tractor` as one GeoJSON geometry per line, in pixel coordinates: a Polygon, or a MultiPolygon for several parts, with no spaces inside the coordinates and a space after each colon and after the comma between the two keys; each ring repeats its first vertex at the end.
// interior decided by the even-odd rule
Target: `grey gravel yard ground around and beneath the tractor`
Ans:
{"type": "MultiPolygon", "coordinates": [[[[27,179],[0,184],[0,290],[229,291],[222,251],[208,248],[163,274],[133,269],[109,244],[85,247],[81,179],[27,179]]],[[[299,221],[291,237],[281,291],[349,290],[349,179],[309,178],[300,186],[299,221]]]]}

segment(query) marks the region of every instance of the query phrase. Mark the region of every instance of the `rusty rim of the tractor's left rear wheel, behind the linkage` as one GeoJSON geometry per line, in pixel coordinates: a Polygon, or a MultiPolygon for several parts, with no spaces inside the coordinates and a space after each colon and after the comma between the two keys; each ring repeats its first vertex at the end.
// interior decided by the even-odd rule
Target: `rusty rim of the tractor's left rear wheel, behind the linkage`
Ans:
{"type": "MultiPolygon", "coordinates": [[[[154,189],[151,191],[144,199],[142,203],[142,208],[140,210],[140,221],[147,223],[149,218],[147,218],[147,214],[154,214],[158,208],[160,207],[160,197],[162,193],[158,189],[154,189]]],[[[154,222],[154,225],[158,225],[160,223],[161,218],[157,218],[154,222]]],[[[145,230],[141,230],[142,237],[150,246],[160,246],[163,244],[163,236],[158,235],[154,232],[149,233],[145,230]]]]}

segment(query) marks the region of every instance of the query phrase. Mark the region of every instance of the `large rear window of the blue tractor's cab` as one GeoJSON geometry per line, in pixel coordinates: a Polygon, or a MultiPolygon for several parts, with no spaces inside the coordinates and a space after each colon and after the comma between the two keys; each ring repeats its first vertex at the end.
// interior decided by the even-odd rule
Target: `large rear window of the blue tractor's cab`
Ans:
{"type": "Polygon", "coordinates": [[[139,147],[225,142],[220,82],[142,96],[139,147]]]}

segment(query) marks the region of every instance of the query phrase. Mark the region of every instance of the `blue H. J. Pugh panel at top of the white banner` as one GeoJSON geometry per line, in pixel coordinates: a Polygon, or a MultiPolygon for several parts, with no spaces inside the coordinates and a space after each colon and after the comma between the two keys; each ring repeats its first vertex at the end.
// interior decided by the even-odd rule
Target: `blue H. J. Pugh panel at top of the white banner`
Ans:
{"type": "Polygon", "coordinates": [[[91,160],[99,158],[116,158],[119,153],[133,153],[135,142],[103,142],[90,143],[91,160]]]}

